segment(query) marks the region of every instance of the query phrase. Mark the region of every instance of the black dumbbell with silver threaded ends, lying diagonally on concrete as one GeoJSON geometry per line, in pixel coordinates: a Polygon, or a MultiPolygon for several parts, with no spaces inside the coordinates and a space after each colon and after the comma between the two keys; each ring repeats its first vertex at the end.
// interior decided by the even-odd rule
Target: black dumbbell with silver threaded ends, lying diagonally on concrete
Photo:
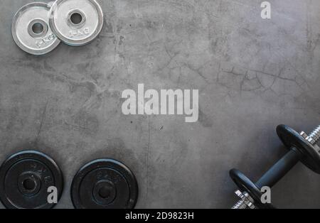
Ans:
{"type": "Polygon", "coordinates": [[[284,155],[267,173],[262,175],[257,183],[247,178],[240,170],[230,170],[230,178],[239,187],[236,193],[241,198],[232,209],[245,209],[247,207],[254,209],[274,208],[272,204],[264,204],[261,201],[262,187],[273,187],[294,165],[299,161],[308,168],[320,174],[320,148],[316,145],[320,141],[320,126],[318,126],[309,136],[303,131],[301,134],[294,131],[289,126],[277,126],[277,135],[289,152],[284,155]]]}

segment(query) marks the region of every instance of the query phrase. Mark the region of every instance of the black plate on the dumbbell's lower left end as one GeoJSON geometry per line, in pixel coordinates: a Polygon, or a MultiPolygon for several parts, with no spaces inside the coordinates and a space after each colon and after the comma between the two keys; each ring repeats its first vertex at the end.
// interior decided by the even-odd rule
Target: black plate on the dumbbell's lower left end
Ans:
{"type": "Polygon", "coordinates": [[[253,200],[255,200],[254,205],[260,209],[274,209],[271,204],[263,204],[261,202],[262,192],[260,188],[255,185],[249,178],[247,178],[240,170],[230,170],[230,178],[239,187],[241,192],[247,192],[253,200]]]}

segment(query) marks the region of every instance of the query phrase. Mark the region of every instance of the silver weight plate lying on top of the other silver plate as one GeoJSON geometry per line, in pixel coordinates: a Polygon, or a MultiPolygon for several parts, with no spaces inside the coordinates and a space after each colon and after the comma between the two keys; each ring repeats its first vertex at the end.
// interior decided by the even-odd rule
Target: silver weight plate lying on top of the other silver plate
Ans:
{"type": "Polygon", "coordinates": [[[57,0],[50,10],[50,28],[68,45],[85,45],[102,30],[103,12],[95,0],[57,0]]]}

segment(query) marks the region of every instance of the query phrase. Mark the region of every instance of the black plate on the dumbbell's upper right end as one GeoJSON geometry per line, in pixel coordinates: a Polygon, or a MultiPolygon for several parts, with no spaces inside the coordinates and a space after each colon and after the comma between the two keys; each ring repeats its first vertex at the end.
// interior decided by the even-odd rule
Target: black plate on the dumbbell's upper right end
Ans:
{"type": "Polygon", "coordinates": [[[277,126],[277,134],[288,149],[295,148],[302,153],[301,161],[304,165],[320,174],[320,153],[314,149],[309,141],[285,125],[277,126]]]}

